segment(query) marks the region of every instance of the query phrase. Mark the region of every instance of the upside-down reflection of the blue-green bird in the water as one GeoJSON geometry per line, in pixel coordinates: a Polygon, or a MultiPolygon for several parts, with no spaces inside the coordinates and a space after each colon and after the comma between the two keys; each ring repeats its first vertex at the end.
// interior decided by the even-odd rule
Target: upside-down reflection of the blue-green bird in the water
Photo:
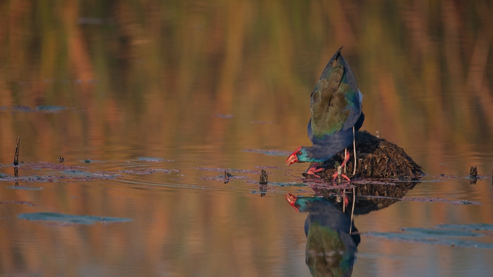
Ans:
{"type": "Polygon", "coordinates": [[[305,221],[306,263],[312,276],[351,276],[355,252],[361,242],[349,216],[321,197],[296,197],[288,202],[300,212],[309,212],[305,221]]]}

